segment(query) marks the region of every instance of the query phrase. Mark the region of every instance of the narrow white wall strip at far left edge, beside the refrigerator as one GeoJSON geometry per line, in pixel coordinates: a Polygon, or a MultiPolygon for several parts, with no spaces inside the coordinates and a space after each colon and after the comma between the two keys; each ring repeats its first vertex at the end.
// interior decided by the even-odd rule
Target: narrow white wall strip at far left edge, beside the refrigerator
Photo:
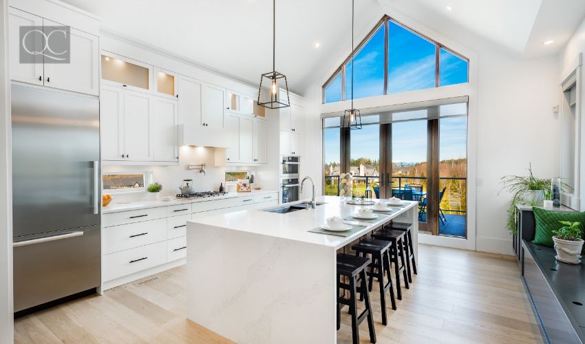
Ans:
{"type": "MultiPolygon", "coordinates": [[[[0,56],[8,56],[8,1],[0,0],[0,56]]],[[[10,80],[0,59],[0,343],[12,343],[12,167],[10,164],[10,80]]]]}

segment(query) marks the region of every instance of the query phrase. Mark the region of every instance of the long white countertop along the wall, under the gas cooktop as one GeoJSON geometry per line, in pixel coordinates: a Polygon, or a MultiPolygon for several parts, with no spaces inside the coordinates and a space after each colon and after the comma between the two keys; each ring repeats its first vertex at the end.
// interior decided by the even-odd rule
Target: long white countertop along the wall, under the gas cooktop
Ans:
{"type": "Polygon", "coordinates": [[[227,195],[223,196],[214,196],[214,197],[201,197],[201,198],[192,198],[192,199],[176,199],[172,201],[129,201],[129,202],[116,202],[116,195],[113,195],[114,200],[110,202],[107,206],[102,207],[102,214],[108,213],[118,213],[120,211],[134,211],[138,209],[147,209],[147,208],[157,208],[159,206],[173,206],[175,204],[186,204],[186,203],[197,203],[197,202],[209,202],[214,200],[225,200],[226,198],[233,198],[233,197],[246,197],[250,195],[262,195],[263,193],[278,193],[277,190],[253,190],[249,193],[228,193],[227,195]]]}

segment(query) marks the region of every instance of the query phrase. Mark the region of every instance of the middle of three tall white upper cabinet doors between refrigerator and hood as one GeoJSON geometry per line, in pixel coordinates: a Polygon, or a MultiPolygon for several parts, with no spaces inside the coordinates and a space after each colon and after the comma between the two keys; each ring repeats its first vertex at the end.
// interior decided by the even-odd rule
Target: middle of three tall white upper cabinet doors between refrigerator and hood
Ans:
{"type": "Polygon", "coordinates": [[[126,160],[152,161],[151,99],[129,89],[124,93],[124,153],[126,160]]]}

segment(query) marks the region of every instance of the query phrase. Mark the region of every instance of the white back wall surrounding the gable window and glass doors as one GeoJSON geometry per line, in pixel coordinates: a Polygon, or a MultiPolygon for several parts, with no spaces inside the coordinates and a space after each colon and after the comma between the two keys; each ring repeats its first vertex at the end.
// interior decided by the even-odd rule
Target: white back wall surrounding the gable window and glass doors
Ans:
{"type": "MultiPolygon", "coordinates": [[[[512,254],[511,235],[506,229],[506,210],[511,197],[507,193],[498,195],[500,178],[510,174],[525,175],[529,162],[542,178],[559,173],[560,146],[557,141],[560,124],[552,112],[553,105],[558,103],[560,72],[557,57],[523,60],[454,23],[428,28],[396,10],[389,11],[381,9],[380,17],[385,12],[391,13],[399,21],[467,54],[476,68],[472,71],[475,76],[470,83],[473,89],[470,105],[474,102],[476,107],[470,108],[469,112],[470,126],[473,116],[476,128],[474,131],[470,127],[469,141],[475,142],[468,152],[469,169],[474,169],[477,175],[476,186],[476,181],[468,181],[469,188],[475,186],[476,191],[476,208],[468,209],[470,221],[474,218],[472,215],[476,215],[476,237],[470,237],[475,242],[466,246],[454,244],[455,239],[449,239],[451,243],[443,240],[441,244],[512,254]]],[[[310,115],[306,125],[309,147],[322,146],[319,120],[321,85],[349,53],[348,50],[343,56],[335,56],[337,60],[332,61],[330,71],[319,76],[303,94],[310,115]]],[[[403,99],[396,95],[392,97],[396,104],[412,101],[409,96],[403,99]]],[[[306,168],[321,181],[322,149],[310,153],[312,157],[307,160],[312,164],[306,168]]],[[[468,192],[473,195],[473,190],[468,192]]]]}

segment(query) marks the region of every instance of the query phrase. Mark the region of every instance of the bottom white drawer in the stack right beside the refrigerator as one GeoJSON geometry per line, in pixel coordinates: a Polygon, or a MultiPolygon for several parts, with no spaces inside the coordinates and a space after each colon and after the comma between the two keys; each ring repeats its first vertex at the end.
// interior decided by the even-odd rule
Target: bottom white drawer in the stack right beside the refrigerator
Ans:
{"type": "Polygon", "coordinates": [[[104,281],[111,281],[167,261],[167,241],[105,255],[104,281]]]}

